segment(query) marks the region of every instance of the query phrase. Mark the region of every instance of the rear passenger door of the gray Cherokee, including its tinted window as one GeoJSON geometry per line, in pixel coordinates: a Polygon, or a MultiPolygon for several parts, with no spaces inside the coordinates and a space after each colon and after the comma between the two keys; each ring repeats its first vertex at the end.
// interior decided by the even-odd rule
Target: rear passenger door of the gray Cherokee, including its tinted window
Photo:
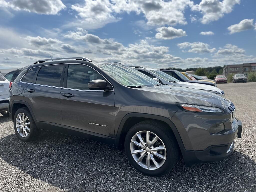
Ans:
{"type": "Polygon", "coordinates": [[[60,92],[66,64],[42,66],[24,93],[24,101],[32,108],[36,121],[49,131],[63,131],[60,92]],[[52,126],[59,130],[52,130],[52,126]]]}

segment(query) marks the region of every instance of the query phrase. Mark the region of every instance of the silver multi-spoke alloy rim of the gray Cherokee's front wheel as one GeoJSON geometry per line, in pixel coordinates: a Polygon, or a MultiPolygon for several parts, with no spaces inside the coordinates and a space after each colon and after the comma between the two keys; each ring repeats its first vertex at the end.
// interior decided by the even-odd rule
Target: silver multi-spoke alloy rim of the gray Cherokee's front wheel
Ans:
{"type": "Polygon", "coordinates": [[[132,137],[131,153],[138,165],[149,170],[159,169],[166,160],[163,141],[150,131],[140,131],[132,137]]]}

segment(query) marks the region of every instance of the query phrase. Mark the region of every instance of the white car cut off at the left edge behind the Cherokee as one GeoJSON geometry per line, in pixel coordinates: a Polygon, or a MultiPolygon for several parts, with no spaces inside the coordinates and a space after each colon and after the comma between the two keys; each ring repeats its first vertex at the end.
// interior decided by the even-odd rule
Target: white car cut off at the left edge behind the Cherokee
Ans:
{"type": "Polygon", "coordinates": [[[10,81],[0,72],[0,112],[3,116],[9,116],[10,81]]]}

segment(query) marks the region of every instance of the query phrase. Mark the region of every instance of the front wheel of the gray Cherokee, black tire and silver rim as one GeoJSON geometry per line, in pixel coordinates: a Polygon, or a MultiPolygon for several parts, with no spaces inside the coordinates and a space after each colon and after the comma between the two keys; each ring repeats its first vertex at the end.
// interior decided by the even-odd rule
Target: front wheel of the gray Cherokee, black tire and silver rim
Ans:
{"type": "Polygon", "coordinates": [[[170,128],[154,121],[143,121],[129,130],[125,152],[132,166],[148,176],[167,174],[179,157],[178,143],[170,128]]]}

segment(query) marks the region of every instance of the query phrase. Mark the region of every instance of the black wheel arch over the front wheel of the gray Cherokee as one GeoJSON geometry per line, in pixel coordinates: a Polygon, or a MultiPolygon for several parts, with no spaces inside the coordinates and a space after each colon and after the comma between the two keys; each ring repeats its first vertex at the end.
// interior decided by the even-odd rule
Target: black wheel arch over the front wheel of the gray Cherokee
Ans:
{"type": "Polygon", "coordinates": [[[114,146],[116,146],[118,148],[123,148],[125,135],[128,132],[128,130],[131,128],[131,126],[130,127],[126,126],[127,124],[129,125],[129,119],[131,119],[133,121],[131,124],[132,126],[141,121],[146,121],[146,120],[159,121],[159,122],[163,122],[163,123],[167,124],[170,127],[170,129],[172,130],[172,132],[174,133],[176,140],[179,144],[179,147],[184,148],[184,144],[179,135],[179,132],[178,132],[176,126],[174,125],[174,123],[170,119],[163,117],[163,116],[159,116],[159,115],[145,114],[145,113],[129,113],[124,116],[124,118],[122,119],[122,121],[118,127],[116,136],[114,138],[114,146]],[[136,121],[136,118],[138,119],[137,121],[136,121]]]}

